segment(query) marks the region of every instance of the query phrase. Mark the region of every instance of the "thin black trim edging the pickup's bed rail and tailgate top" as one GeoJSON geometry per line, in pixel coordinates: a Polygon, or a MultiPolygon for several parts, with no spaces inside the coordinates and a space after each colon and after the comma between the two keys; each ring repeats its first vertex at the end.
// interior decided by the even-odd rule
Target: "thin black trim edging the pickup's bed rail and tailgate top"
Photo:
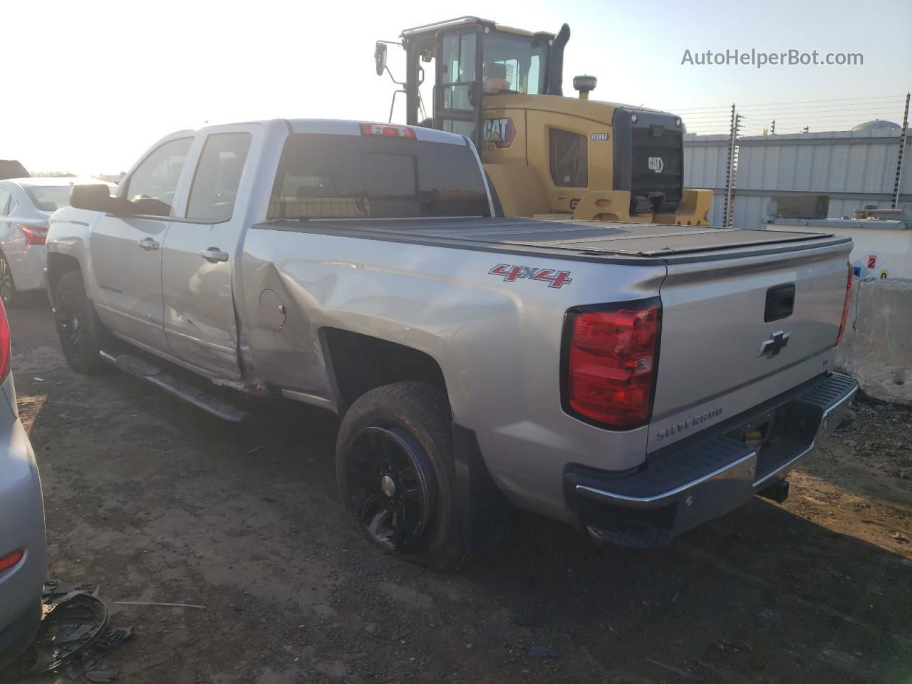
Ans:
{"type": "MultiPolygon", "coordinates": [[[[340,220],[339,223],[342,223],[340,220]]],[[[352,225],[351,223],[346,223],[352,225]]],[[[401,233],[391,233],[389,231],[378,231],[365,228],[363,226],[351,228],[336,228],[326,226],[326,224],[313,223],[311,221],[301,221],[300,223],[289,223],[287,221],[267,221],[264,223],[254,223],[250,226],[252,230],[261,231],[281,231],[284,233],[313,233],[317,235],[331,235],[333,237],[346,237],[355,240],[376,240],[378,242],[393,244],[416,244],[425,247],[445,247],[450,249],[461,249],[468,252],[492,252],[495,254],[513,254],[518,256],[542,256],[545,258],[560,258],[567,261],[581,261],[595,264],[637,264],[637,265],[668,265],[668,264],[692,264],[711,261],[722,261],[726,259],[745,259],[752,256],[763,256],[766,254],[785,254],[790,252],[799,252],[809,249],[820,249],[823,247],[832,247],[838,244],[847,244],[852,242],[851,237],[834,236],[825,243],[796,244],[788,243],[781,246],[771,247],[770,249],[755,250],[750,253],[736,251],[732,254],[700,254],[700,255],[681,255],[668,254],[668,256],[658,257],[650,254],[632,254],[617,252],[596,252],[591,250],[574,251],[576,248],[568,248],[560,245],[549,244],[523,244],[523,243],[503,243],[490,241],[485,244],[482,240],[472,240],[464,237],[448,238],[426,235],[406,235],[401,233]]],[[[819,237],[806,238],[807,240],[817,240],[819,237]]],[[[739,250],[743,245],[731,245],[730,249],[739,250]]]]}

